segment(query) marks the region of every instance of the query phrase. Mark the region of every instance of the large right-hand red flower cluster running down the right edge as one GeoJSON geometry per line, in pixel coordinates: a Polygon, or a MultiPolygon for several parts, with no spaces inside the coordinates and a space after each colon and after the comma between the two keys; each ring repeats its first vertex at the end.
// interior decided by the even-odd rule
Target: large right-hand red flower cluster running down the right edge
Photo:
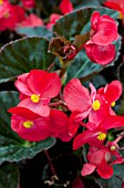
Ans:
{"type": "Polygon", "coordinates": [[[124,126],[124,116],[117,116],[112,109],[122,94],[122,85],[118,81],[113,81],[99,91],[92,84],[90,88],[91,93],[78,79],[72,79],[64,87],[63,96],[72,112],[71,119],[79,123],[76,126],[70,124],[69,132],[74,136],[79,126],[83,126],[85,130],[75,136],[73,149],[79,149],[84,144],[91,146],[87,154],[89,163],[83,166],[82,176],[96,169],[102,178],[107,179],[113,175],[112,165],[124,163],[117,150],[118,138],[104,145],[108,129],[124,126]],[[89,122],[83,123],[82,119],[87,117],[89,122]]]}

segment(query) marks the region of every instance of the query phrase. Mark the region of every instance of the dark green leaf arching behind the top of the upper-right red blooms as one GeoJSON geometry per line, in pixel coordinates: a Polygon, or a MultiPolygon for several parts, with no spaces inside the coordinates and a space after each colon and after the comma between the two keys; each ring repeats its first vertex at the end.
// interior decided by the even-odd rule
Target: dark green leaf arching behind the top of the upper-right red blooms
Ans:
{"type": "Polygon", "coordinates": [[[58,35],[73,40],[75,35],[84,34],[91,30],[90,20],[94,11],[99,11],[101,14],[108,14],[115,20],[118,18],[117,11],[104,7],[82,8],[60,18],[52,30],[58,35]]]}

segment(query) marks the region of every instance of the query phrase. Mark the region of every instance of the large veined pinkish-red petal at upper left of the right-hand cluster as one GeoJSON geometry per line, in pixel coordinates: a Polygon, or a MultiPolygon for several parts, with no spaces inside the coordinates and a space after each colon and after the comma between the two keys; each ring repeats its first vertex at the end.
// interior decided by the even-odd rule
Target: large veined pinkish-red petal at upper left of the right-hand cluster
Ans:
{"type": "Polygon", "coordinates": [[[89,90],[78,79],[72,79],[64,87],[63,96],[70,111],[83,113],[91,108],[89,90]]]}

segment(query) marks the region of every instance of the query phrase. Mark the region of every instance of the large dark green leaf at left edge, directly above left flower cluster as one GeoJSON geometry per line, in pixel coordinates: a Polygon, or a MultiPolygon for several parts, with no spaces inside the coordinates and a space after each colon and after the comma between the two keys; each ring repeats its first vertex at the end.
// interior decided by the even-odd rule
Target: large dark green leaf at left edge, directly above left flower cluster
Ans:
{"type": "Polygon", "coordinates": [[[4,45],[0,51],[0,82],[32,69],[48,69],[54,61],[48,49],[49,41],[43,38],[24,38],[4,45]]]}

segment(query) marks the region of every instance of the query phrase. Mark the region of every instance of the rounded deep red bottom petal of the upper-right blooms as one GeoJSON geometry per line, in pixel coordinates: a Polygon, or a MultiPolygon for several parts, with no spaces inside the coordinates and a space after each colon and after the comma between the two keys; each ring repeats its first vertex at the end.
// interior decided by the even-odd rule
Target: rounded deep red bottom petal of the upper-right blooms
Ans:
{"type": "Polygon", "coordinates": [[[94,45],[92,49],[92,55],[97,64],[106,65],[115,58],[115,46],[113,44],[106,46],[94,45]]]}

